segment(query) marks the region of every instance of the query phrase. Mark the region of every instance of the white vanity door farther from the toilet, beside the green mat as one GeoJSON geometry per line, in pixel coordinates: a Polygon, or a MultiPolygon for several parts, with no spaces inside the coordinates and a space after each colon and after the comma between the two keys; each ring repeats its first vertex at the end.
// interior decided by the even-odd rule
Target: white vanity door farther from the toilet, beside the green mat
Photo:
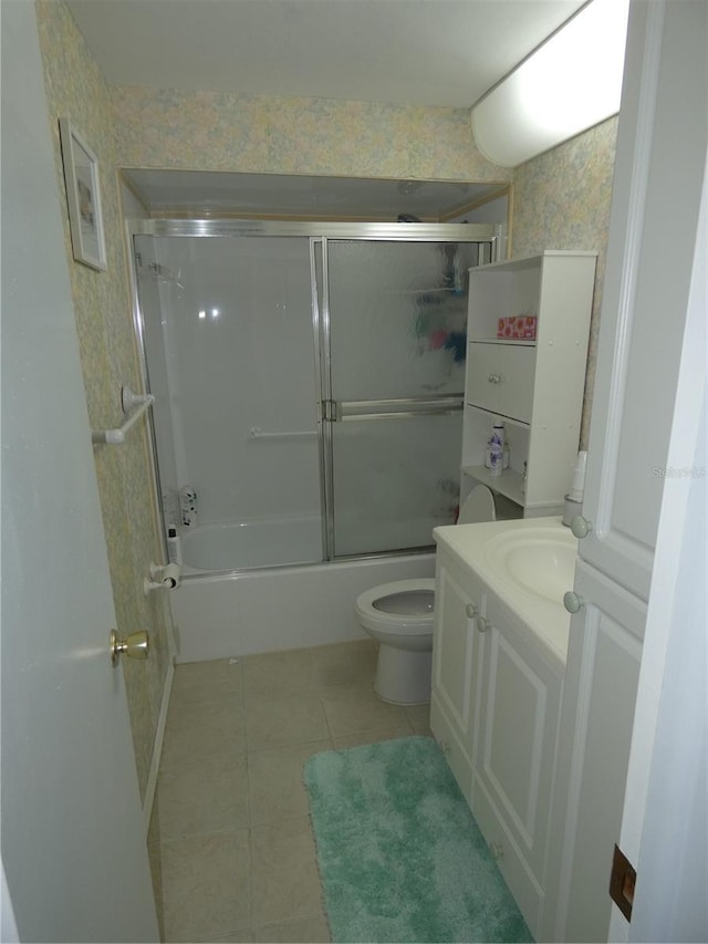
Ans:
{"type": "Polygon", "coordinates": [[[538,936],[563,667],[487,602],[472,812],[538,936]]]}

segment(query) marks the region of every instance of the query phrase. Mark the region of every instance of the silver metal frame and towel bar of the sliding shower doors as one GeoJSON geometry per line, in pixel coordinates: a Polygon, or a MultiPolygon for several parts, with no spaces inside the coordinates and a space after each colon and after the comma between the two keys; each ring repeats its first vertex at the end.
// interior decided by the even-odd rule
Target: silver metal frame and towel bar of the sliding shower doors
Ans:
{"type": "MultiPolygon", "coordinates": [[[[415,417],[421,414],[448,415],[461,412],[462,397],[409,397],[396,401],[348,401],[335,402],[331,398],[332,378],[329,351],[330,309],[327,292],[327,240],[352,240],[386,242],[473,242],[483,248],[483,259],[479,264],[496,262],[501,258],[503,246],[502,227],[492,224],[437,224],[437,222],[316,222],[300,220],[256,220],[256,219],[137,219],[126,222],[129,240],[131,280],[133,294],[133,318],[138,341],[140,370],[145,388],[148,388],[147,357],[145,353],[145,332],[138,295],[138,260],[136,259],[133,237],[185,237],[185,238],[243,238],[243,237],[302,237],[310,240],[311,286],[312,286],[312,326],[314,336],[315,388],[317,398],[316,430],[303,430],[300,435],[316,435],[320,449],[321,511],[322,511],[322,558],[325,561],[345,561],[382,557],[398,557],[402,553],[429,552],[429,546],[407,548],[405,551],[375,551],[357,554],[334,553],[334,473],[332,423],[353,419],[376,421],[396,417],[415,417]],[[320,251],[322,266],[322,299],[317,295],[316,253],[320,251]]],[[[163,510],[159,466],[157,461],[157,442],[154,421],[149,421],[155,507],[163,510]]],[[[251,430],[253,438],[266,438],[264,430],[251,430]]],[[[290,434],[292,435],[292,434],[290,434]]],[[[164,517],[164,516],[163,516],[164,517]]],[[[162,528],[163,550],[167,559],[165,528],[162,528]]]]}

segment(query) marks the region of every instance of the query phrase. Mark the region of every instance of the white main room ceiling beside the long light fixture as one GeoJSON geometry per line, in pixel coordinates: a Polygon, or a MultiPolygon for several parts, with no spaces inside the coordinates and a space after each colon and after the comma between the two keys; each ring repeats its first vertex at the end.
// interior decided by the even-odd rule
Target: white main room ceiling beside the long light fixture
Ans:
{"type": "Polygon", "coordinates": [[[112,85],[470,107],[585,0],[69,0],[112,85]]]}

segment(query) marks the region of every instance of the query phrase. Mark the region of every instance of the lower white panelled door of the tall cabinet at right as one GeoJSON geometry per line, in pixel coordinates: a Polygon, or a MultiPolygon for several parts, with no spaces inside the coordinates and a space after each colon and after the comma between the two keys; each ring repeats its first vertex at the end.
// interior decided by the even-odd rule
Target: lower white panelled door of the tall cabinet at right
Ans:
{"type": "Polygon", "coordinates": [[[579,561],[559,735],[544,941],[606,941],[646,605],[579,561]],[[555,895],[558,893],[558,900],[555,895]]]}

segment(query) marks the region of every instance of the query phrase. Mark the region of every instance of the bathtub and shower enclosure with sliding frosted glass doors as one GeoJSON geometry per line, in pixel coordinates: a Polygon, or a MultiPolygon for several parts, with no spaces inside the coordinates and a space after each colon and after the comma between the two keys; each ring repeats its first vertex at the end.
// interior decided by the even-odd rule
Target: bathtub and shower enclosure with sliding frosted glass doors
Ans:
{"type": "Polygon", "coordinates": [[[160,219],[133,243],[180,661],[357,637],[352,599],[431,575],[454,521],[468,269],[496,228],[160,219]]]}

